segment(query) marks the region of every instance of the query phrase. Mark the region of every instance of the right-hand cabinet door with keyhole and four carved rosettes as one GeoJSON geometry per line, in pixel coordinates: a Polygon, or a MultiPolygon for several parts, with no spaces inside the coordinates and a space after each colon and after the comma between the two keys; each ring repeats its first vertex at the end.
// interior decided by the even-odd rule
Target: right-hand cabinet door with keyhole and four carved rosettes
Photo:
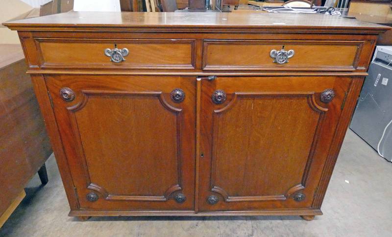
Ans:
{"type": "Polygon", "coordinates": [[[350,82],[345,77],[202,81],[199,210],[311,208],[350,82]]]}

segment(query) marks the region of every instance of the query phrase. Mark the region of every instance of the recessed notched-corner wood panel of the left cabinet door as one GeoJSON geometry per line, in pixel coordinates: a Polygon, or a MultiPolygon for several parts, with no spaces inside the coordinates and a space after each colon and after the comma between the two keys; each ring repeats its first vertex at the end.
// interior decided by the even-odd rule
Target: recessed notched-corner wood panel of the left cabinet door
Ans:
{"type": "Polygon", "coordinates": [[[70,109],[91,183],[110,199],[167,199],[181,189],[177,129],[181,110],[161,95],[85,92],[87,101],[70,109]]]}

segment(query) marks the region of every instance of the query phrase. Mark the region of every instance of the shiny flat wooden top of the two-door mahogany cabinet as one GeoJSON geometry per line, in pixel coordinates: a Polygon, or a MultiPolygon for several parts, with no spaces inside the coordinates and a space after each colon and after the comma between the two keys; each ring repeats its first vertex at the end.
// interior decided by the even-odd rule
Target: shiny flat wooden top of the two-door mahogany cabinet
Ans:
{"type": "Polygon", "coordinates": [[[219,13],[219,12],[67,12],[30,18],[4,25],[11,29],[55,30],[63,28],[159,27],[159,28],[252,28],[252,29],[362,29],[385,31],[388,26],[322,14],[219,13]]]}

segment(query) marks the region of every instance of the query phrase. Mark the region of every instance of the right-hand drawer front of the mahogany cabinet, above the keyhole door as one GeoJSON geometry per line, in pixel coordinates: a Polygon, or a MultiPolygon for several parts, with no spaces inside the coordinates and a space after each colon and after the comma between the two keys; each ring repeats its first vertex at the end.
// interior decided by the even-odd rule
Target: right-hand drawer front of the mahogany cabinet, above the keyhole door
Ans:
{"type": "Polygon", "coordinates": [[[205,40],[203,70],[354,71],[364,41],[205,40]],[[270,53],[294,55],[276,63],[270,53]],[[235,55],[235,56],[233,56],[235,55]]]}

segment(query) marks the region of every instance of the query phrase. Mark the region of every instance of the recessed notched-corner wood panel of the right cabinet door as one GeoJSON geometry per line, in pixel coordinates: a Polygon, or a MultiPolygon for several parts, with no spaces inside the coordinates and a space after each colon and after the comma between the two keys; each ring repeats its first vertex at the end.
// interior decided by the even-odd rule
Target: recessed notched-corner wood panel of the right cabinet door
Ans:
{"type": "Polygon", "coordinates": [[[313,95],[236,93],[215,110],[213,190],[227,201],[239,201],[284,199],[286,192],[299,189],[325,111],[313,104],[313,95]]]}

